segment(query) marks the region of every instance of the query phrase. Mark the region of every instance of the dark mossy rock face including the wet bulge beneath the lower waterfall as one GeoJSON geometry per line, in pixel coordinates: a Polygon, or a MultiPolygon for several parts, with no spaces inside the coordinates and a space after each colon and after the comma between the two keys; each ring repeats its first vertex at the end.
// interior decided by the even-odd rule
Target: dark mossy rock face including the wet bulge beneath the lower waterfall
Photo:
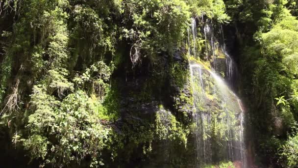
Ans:
{"type": "Polygon", "coordinates": [[[117,79],[121,117],[115,127],[122,147],[117,148],[117,160],[111,166],[192,168],[201,159],[206,165],[243,164],[242,109],[237,96],[219,84],[220,77],[207,69],[194,73],[182,56],[175,57],[171,66],[162,67],[166,73],[117,79]],[[206,120],[198,122],[199,113],[205,113],[206,120]],[[199,131],[204,126],[207,132],[199,131]],[[202,142],[204,148],[200,148],[202,142]]]}

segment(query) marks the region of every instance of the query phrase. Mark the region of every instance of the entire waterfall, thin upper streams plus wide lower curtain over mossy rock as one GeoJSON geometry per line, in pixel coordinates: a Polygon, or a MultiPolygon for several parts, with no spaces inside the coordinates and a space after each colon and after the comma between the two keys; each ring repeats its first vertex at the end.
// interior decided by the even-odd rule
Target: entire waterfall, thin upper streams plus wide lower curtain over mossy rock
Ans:
{"type": "MultiPolygon", "coordinates": [[[[189,54],[197,57],[196,19],[192,19],[191,26],[189,32],[192,33],[193,42],[191,43],[189,38],[189,54]]],[[[231,161],[237,164],[238,168],[246,168],[244,110],[241,100],[228,86],[233,82],[235,65],[225,49],[225,44],[220,44],[214,35],[212,22],[205,22],[202,30],[206,54],[213,60],[213,70],[204,68],[198,63],[190,63],[197,126],[196,167],[204,168],[208,165],[231,161]],[[224,54],[224,58],[216,56],[219,51],[224,54]],[[224,66],[219,66],[223,63],[224,66]],[[220,71],[224,71],[225,78],[217,74],[220,71]]],[[[220,27],[219,34],[222,33],[223,29],[220,27]]]]}

